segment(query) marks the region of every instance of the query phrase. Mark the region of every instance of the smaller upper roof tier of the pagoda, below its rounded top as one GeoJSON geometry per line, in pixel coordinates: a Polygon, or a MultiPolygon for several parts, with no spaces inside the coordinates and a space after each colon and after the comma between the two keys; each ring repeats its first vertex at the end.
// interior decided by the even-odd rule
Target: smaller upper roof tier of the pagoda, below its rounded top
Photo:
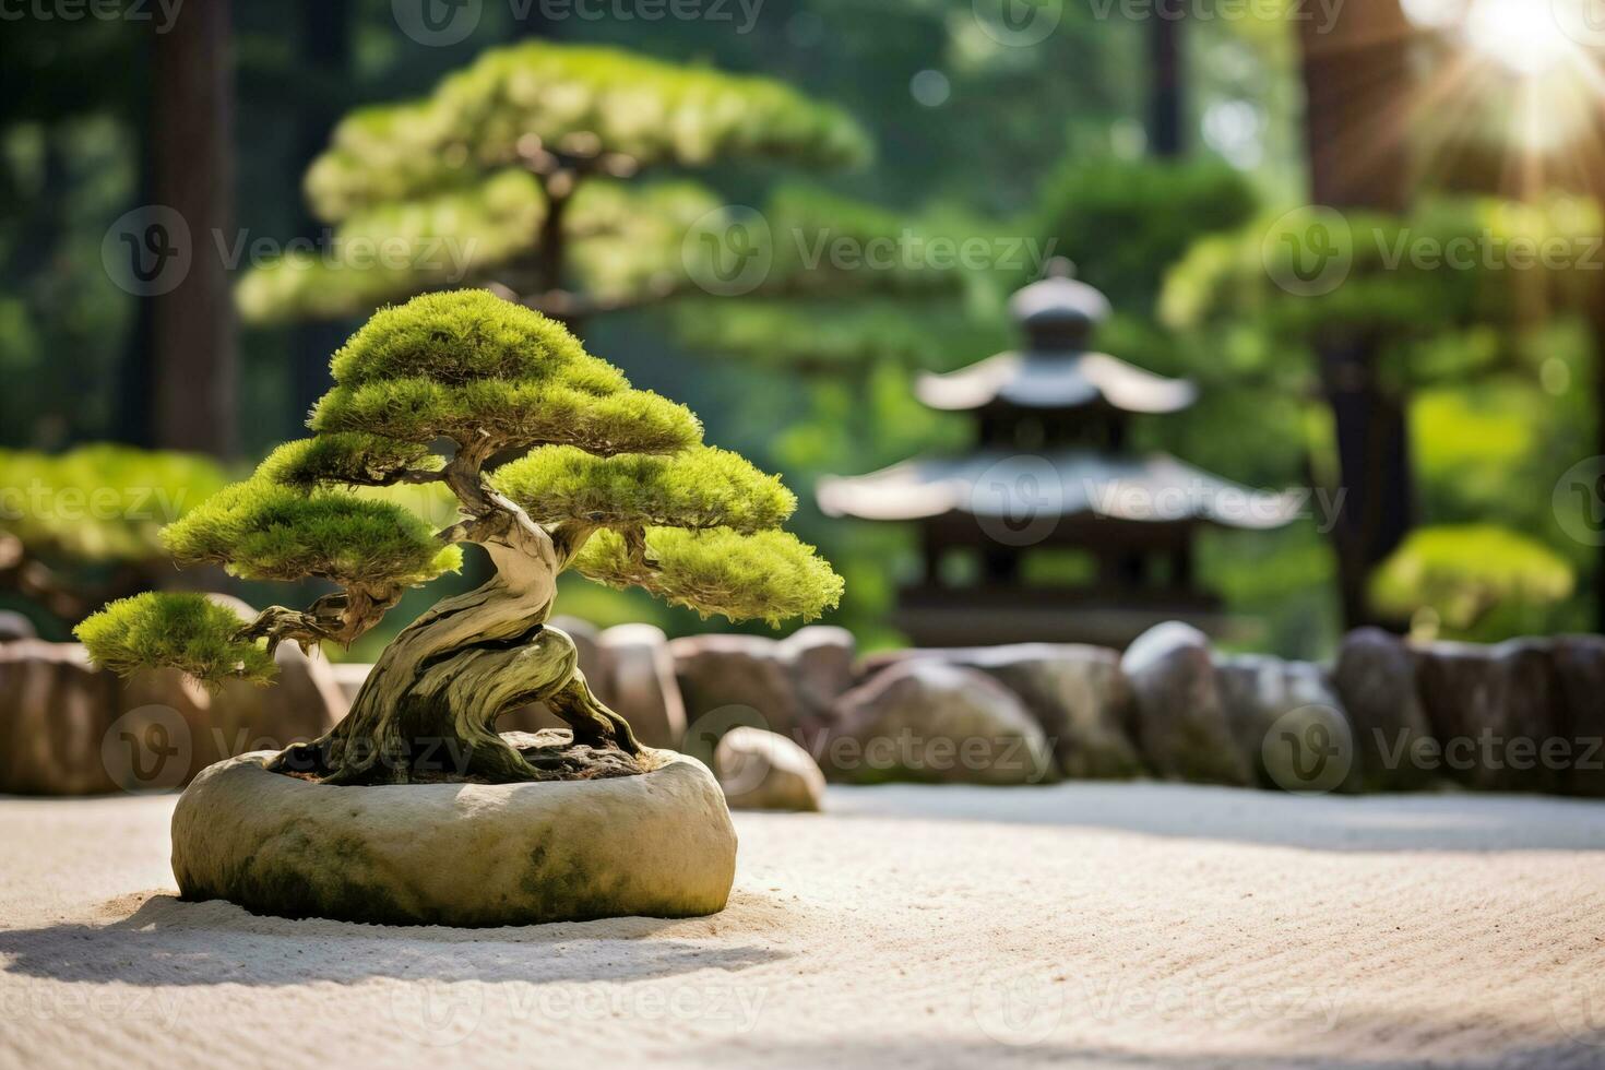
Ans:
{"type": "Polygon", "coordinates": [[[1165,379],[1107,353],[998,353],[957,372],[926,374],[915,396],[950,412],[1006,404],[1080,409],[1106,404],[1133,414],[1180,412],[1197,399],[1188,379],[1165,379]]]}

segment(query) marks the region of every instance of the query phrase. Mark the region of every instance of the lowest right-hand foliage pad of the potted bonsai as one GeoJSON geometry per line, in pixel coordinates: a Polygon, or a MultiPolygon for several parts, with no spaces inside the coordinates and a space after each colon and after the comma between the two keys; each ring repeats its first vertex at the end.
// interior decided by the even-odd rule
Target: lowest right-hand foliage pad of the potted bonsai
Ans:
{"type": "Polygon", "coordinates": [[[724,528],[648,528],[647,561],[636,560],[620,534],[603,531],[584,545],[575,569],[608,587],[642,587],[672,605],[732,621],[811,621],[841,602],[841,576],[786,531],[743,536],[724,528]]]}

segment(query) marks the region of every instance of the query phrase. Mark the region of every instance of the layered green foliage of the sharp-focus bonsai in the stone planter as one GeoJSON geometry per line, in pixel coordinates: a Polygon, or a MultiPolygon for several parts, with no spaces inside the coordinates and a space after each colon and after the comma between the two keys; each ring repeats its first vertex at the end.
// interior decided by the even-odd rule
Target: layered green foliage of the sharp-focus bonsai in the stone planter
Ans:
{"type": "MultiPolygon", "coordinates": [[[[170,525],[180,563],[246,579],[319,578],[369,602],[459,568],[457,528],[353,488],[483,480],[534,523],[583,533],[570,566],[733,621],[815,618],[841,578],[780,531],[796,497],[737,454],[701,444],[684,406],[636,390],[562,324],[485,290],[376,313],[334,355],[311,438],[279,446],[246,481],[170,525]],[[448,440],[456,462],[437,454],[448,440]],[[461,451],[469,449],[469,454],[461,451]],[[523,452],[488,470],[462,457],[523,452]],[[449,468],[443,473],[443,467],[449,468]],[[453,475],[454,473],[454,475],[453,475]]],[[[464,512],[491,509],[459,489],[464,512]],[[477,505],[475,505],[477,501],[477,505]]],[[[80,627],[104,666],[173,666],[217,682],[263,679],[273,659],[233,611],[189,595],[114,603],[80,627]]],[[[255,634],[255,632],[252,632],[255,634]]]]}

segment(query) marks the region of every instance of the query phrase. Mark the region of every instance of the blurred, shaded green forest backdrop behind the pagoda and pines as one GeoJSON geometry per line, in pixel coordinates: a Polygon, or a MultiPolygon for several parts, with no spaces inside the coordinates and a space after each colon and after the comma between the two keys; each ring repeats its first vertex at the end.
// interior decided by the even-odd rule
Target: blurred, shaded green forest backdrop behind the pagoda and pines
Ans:
{"type": "MultiPolygon", "coordinates": [[[[323,225],[308,212],[302,175],[340,116],[425,95],[490,47],[526,37],[607,43],[764,74],[844,107],[868,133],[873,159],[806,176],[807,196],[839,199],[822,204],[843,205],[844,225],[857,210],[847,205],[867,205],[881,231],[1051,242],[1115,305],[1101,348],[1204,387],[1196,412],[1144,425],[1140,446],[1257,488],[1347,484],[1377,510],[1384,520],[1347,541],[1342,531],[1329,537],[1319,512],[1279,533],[1210,536],[1199,571],[1249,622],[1233,642],[1318,656],[1347,622],[1367,618],[1475,638],[1579,630],[1597,619],[1599,552],[1568,536],[1576,518],[1557,512],[1552,489],[1571,465],[1605,452],[1592,393],[1591,321],[1600,302],[1587,294],[1544,302],[1534,316],[1523,302],[1488,302],[1489,281],[1477,273],[1401,279],[1369,276],[1366,265],[1345,287],[1342,314],[1332,302],[1266,295],[1258,250],[1274,226],[1268,220],[1295,205],[1314,201],[1375,213],[1377,228],[1412,218],[1412,233],[1461,234],[1489,220],[1507,225],[1489,197],[1538,204],[1579,193],[1576,181],[1509,189],[1485,159],[1496,119],[1469,122],[1457,143],[1435,144],[1436,165],[1422,167],[1425,138],[1390,128],[1374,107],[1409,83],[1403,32],[1398,47],[1363,64],[1323,69],[1319,50],[1300,42],[1308,27],[1284,18],[1132,19],[1120,5],[1059,5],[1054,32],[1030,47],[989,34],[969,0],[764,0],[746,32],[735,5],[729,21],[552,19],[539,5],[518,18],[518,6],[488,2],[465,40],[427,47],[401,32],[388,0],[234,0],[228,19],[194,19],[189,32],[213,37],[191,40],[201,51],[189,59],[173,56],[181,42],[140,22],[8,24],[0,446],[59,451],[116,440],[250,462],[303,433],[329,353],[360,318],[218,327],[180,310],[164,327],[152,322],[152,302],[119,290],[101,266],[112,220],[159,201],[151,191],[164,181],[162,143],[183,133],[186,117],[228,114],[225,162],[197,164],[191,181],[205,188],[191,194],[226,188],[231,239],[318,237],[323,225]],[[1112,14],[1099,18],[1104,10],[1112,14]],[[226,50],[231,66],[173,74],[207,48],[226,50]],[[1306,90],[1319,111],[1305,112],[1306,90]],[[1379,159],[1363,178],[1345,180],[1355,168],[1327,157],[1356,132],[1369,132],[1379,159]],[[207,329],[223,334],[185,335],[207,329]],[[234,403],[223,414],[231,425],[183,396],[164,399],[156,374],[178,351],[212,359],[213,342],[215,359],[233,353],[236,367],[234,403]],[[1364,396],[1351,391],[1356,375],[1364,396]],[[1366,433],[1387,443],[1380,459],[1356,460],[1345,438],[1356,411],[1366,433]]],[[[1395,0],[1348,8],[1350,29],[1363,34],[1400,19],[1395,0]]],[[[1499,91],[1489,91],[1496,103],[1499,91]]],[[[777,186],[796,181],[775,167],[719,167],[698,178],[729,204],[767,204],[777,186]]],[[[1534,212],[1544,215],[1544,204],[1534,212]]],[[[1554,223],[1544,215],[1522,226],[1554,223]]],[[[1571,226],[1599,231],[1595,217],[1571,226]]],[[[717,314],[666,305],[599,318],[584,335],[637,385],[690,404],[709,441],[785,475],[804,502],[799,531],[847,579],[838,622],[878,645],[897,640],[883,618],[894,584],[913,568],[912,533],[828,521],[809,489],[823,473],[961,444],[961,424],[912,399],[912,371],[957,367],[1011,345],[1005,298],[1037,270],[966,273],[934,300],[732,302],[717,314]]],[[[225,274],[226,286],[239,279],[225,274]]],[[[1512,286],[1493,279],[1501,292],[1512,286]]],[[[207,367],[197,364],[196,375],[207,367]]],[[[1056,563],[1034,568],[1051,579],[1056,563]]],[[[421,595],[417,608],[435,597],[421,595]]],[[[705,627],[594,587],[565,598],[565,611],[602,624],[705,627]]]]}

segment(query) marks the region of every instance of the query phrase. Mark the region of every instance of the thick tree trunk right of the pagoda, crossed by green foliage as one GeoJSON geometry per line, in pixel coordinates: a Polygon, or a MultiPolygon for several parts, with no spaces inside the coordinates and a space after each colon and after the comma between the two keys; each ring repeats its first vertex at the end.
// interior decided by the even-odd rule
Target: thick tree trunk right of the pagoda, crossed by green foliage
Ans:
{"type": "MultiPolygon", "coordinates": [[[[1350,0],[1326,34],[1310,19],[1298,26],[1311,199],[1337,210],[1403,212],[1411,30],[1398,0],[1350,0]]],[[[1347,491],[1332,528],[1339,586],[1345,624],[1356,627],[1374,622],[1366,597],[1372,569],[1414,521],[1406,399],[1380,382],[1375,335],[1319,338],[1316,348],[1347,491]]]]}

